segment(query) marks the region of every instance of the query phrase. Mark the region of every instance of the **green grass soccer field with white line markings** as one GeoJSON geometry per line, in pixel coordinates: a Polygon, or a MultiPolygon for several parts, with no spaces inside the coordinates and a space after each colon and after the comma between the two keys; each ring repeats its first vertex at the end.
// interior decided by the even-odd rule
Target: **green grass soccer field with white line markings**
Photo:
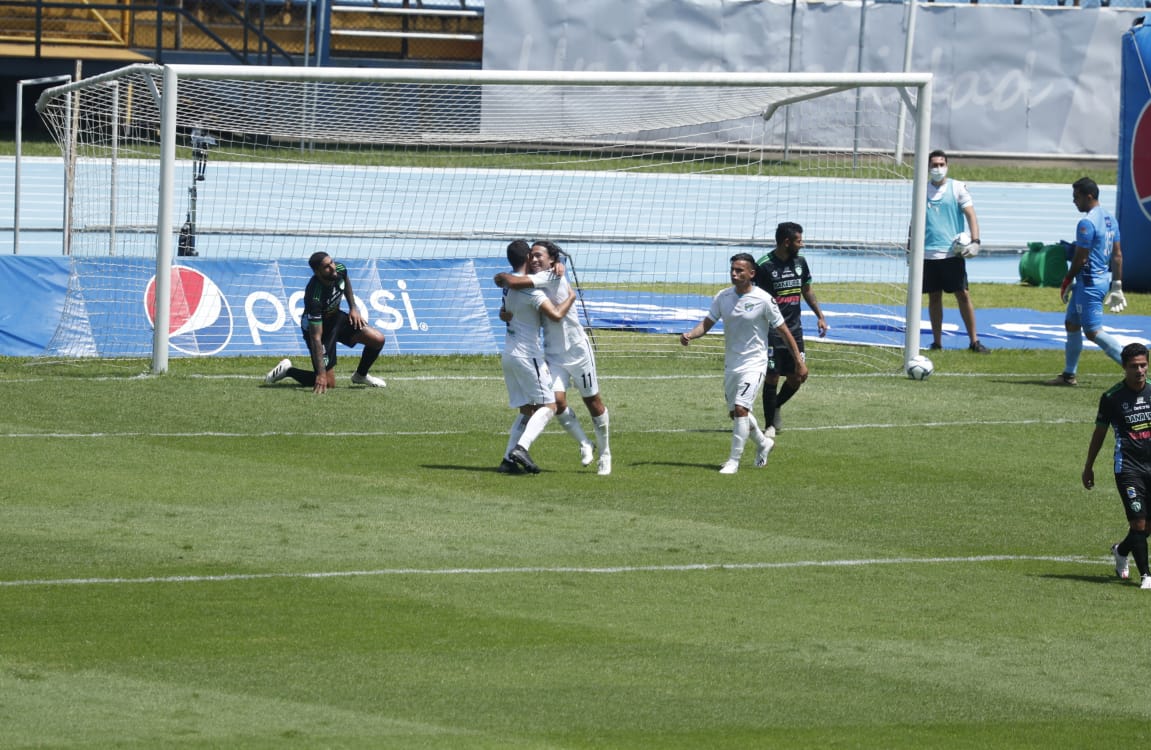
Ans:
{"type": "Polygon", "coordinates": [[[932,355],[813,372],[734,476],[718,359],[601,362],[609,477],[557,426],[496,474],[494,358],[388,358],[384,390],[348,360],[322,397],[265,360],[0,359],[0,747],[1146,740],[1151,596],[1078,481],[1118,366],[932,355]]]}

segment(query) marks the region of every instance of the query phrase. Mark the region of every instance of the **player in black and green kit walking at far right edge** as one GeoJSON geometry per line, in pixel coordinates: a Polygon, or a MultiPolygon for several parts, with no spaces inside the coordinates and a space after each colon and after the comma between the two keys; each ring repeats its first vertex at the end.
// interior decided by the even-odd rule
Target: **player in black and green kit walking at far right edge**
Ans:
{"type": "Polygon", "coordinates": [[[1148,487],[1151,484],[1151,388],[1148,387],[1148,347],[1128,344],[1120,353],[1123,380],[1099,398],[1095,431],[1087,449],[1083,487],[1095,487],[1095,458],[1110,427],[1115,434],[1115,487],[1127,512],[1127,537],[1111,548],[1115,575],[1128,577],[1127,556],[1135,558],[1139,588],[1151,590],[1148,569],[1148,487]]]}

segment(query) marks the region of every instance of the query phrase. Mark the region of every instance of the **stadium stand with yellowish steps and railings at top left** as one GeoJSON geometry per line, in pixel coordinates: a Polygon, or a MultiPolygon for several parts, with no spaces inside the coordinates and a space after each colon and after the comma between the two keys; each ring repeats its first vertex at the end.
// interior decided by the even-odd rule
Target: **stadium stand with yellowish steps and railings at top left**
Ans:
{"type": "Polygon", "coordinates": [[[321,51],[326,64],[479,67],[482,60],[482,0],[336,0],[323,20],[315,17],[321,7],[308,0],[0,0],[0,58],[106,58],[121,49],[158,62],[300,64],[321,51]],[[305,48],[318,29],[328,29],[326,38],[305,48]],[[56,54],[64,47],[67,55],[56,54]]]}

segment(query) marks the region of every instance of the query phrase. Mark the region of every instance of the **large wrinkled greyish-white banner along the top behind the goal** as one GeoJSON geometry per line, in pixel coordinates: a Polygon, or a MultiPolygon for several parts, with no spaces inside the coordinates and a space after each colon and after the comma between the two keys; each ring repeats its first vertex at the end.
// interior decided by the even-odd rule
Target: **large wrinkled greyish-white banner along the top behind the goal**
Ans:
{"type": "MultiPolygon", "coordinates": [[[[486,0],[485,7],[483,67],[493,70],[897,72],[908,10],[765,0],[486,0]]],[[[1114,158],[1120,37],[1139,15],[921,3],[912,70],[936,75],[932,147],[1114,158]]]]}

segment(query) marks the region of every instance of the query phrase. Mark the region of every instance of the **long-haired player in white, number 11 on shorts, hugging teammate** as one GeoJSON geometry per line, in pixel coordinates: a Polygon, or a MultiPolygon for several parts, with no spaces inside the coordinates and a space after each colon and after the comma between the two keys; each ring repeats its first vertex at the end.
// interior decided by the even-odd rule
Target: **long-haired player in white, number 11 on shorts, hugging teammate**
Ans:
{"type": "MultiPolygon", "coordinates": [[[[551,242],[541,240],[532,246],[527,261],[527,275],[497,274],[495,283],[505,289],[540,289],[544,291],[554,305],[559,305],[573,298],[571,284],[564,276],[563,263],[559,262],[563,251],[551,242]]],[[[595,366],[595,352],[592,342],[579,321],[574,308],[556,321],[543,321],[543,350],[548,368],[555,377],[556,419],[569,435],[579,443],[580,462],[587,466],[594,458],[593,445],[580,427],[576,412],[567,406],[567,388],[574,387],[592,414],[592,426],[595,430],[595,447],[600,460],[596,473],[601,476],[611,474],[611,444],[608,407],[600,396],[600,380],[595,366]]]]}

